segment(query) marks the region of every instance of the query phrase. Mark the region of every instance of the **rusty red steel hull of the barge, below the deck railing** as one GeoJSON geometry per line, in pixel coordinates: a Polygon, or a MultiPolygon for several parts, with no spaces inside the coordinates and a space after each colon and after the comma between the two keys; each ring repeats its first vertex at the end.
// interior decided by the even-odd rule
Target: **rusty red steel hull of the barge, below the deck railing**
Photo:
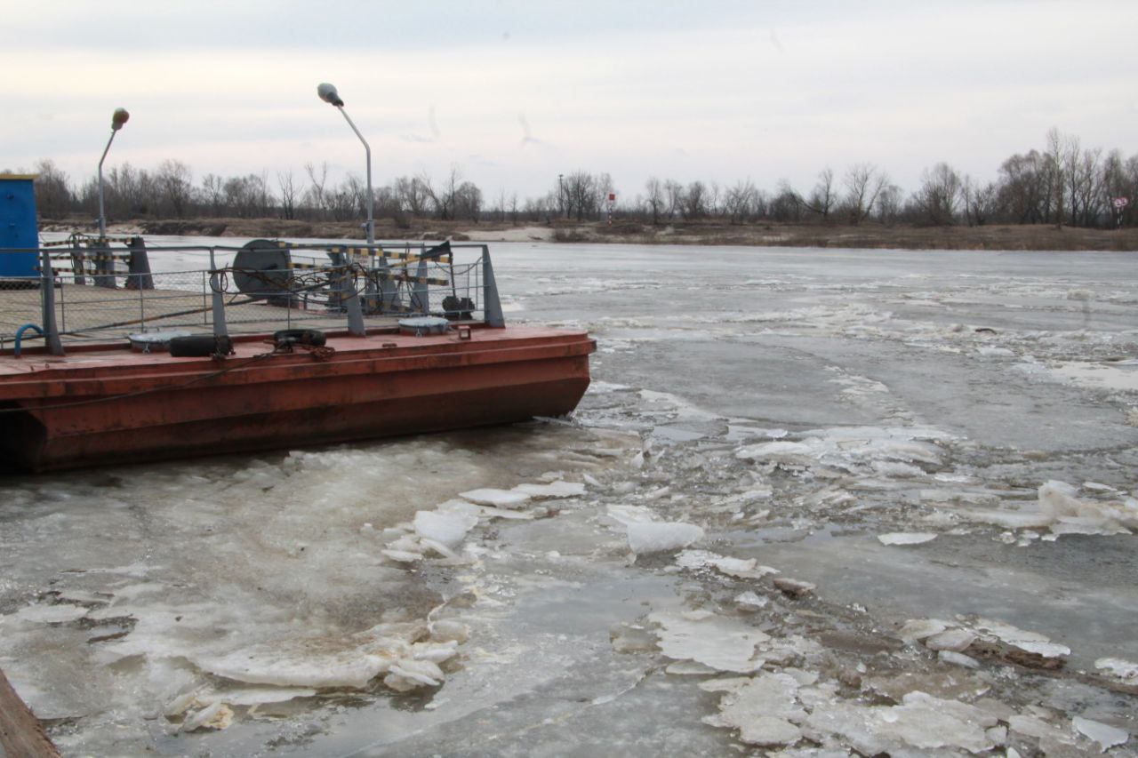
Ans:
{"type": "Polygon", "coordinates": [[[346,442],[572,411],[585,332],[510,327],[412,337],[330,335],[327,360],[174,359],[124,348],[0,356],[0,446],[35,471],[346,442]]]}

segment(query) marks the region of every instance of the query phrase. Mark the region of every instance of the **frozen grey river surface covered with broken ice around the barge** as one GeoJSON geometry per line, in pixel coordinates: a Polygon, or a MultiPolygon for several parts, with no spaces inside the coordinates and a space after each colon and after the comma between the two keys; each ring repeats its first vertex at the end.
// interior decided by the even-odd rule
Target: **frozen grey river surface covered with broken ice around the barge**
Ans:
{"type": "Polygon", "coordinates": [[[571,420],[0,480],[66,755],[1138,752],[1133,254],[493,252],[571,420]]]}

